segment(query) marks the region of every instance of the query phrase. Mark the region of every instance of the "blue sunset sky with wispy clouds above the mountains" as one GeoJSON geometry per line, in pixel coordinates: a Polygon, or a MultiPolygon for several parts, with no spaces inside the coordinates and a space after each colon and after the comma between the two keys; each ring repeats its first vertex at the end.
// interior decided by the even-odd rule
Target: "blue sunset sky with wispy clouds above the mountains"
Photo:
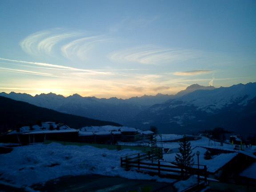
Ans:
{"type": "Polygon", "coordinates": [[[0,92],[129,98],[255,81],[255,0],[0,0],[0,92]]]}

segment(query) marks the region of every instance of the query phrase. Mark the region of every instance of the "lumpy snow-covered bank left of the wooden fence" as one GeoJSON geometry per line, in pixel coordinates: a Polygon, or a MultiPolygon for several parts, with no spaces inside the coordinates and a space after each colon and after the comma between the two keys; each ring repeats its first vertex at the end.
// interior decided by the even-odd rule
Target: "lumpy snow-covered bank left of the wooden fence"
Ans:
{"type": "Polygon", "coordinates": [[[87,174],[173,182],[135,171],[127,172],[121,168],[120,157],[136,152],[130,149],[116,151],[56,143],[16,147],[11,153],[0,155],[0,182],[28,187],[60,176],[87,174]]]}

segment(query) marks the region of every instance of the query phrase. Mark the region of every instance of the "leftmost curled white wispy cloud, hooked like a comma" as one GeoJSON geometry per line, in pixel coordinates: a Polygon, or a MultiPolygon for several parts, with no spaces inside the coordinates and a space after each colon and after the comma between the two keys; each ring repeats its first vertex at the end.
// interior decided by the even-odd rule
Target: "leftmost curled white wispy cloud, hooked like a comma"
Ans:
{"type": "Polygon", "coordinates": [[[63,40],[81,35],[80,32],[67,32],[60,28],[40,31],[27,36],[20,42],[20,47],[29,55],[53,56],[53,47],[63,40]]]}

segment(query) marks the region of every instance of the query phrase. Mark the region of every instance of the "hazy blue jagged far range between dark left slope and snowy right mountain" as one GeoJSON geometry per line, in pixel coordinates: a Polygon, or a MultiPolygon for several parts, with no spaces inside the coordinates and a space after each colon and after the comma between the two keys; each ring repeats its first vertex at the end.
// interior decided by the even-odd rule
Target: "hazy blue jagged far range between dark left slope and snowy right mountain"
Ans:
{"type": "Polygon", "coordinates": [[[34,104],[39,107],[50,108],[58,112],[85,116],[93,119],[114,121],[125,124],[136,117],[140,112],[146,110],[154,104],[161,104],[167,100],[183,96],[198,89],[214,89],[214,87],[204,87],[198,84],[189,86],[175,95],[157,94],[156,96],[132,97],[129,99],[99,99],[96,97],[82,97],[78,94],[64,97],[54,93],[31,96],[26,93],[2,92],[0,96],[34,104]]]}

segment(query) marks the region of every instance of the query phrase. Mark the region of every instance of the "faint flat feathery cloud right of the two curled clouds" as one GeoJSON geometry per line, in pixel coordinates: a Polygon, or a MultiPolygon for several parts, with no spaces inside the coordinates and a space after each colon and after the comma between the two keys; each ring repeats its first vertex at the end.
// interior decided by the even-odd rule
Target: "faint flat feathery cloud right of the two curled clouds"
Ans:
{"type": "Polygon", "coordinates": [[[140,64],[163,64],[185,61],[202,56],[202,52],[189,49],[142,46],[112,52],[109,58],[116,62],[135,62],[140,64]]]}

